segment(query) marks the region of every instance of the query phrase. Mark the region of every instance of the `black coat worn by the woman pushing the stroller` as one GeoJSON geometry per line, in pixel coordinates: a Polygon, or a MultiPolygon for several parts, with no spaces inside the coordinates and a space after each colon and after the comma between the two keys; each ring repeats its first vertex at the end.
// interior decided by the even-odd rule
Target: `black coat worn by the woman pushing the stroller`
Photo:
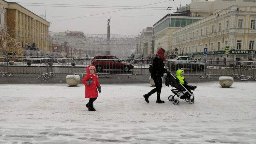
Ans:
{"type": "Polygon", "coordinates": [[[160,57],[154,57],[151,77],[162,77],[163,73],[167,73],[167,69],[163,66],[163,60],[160,57]]]}

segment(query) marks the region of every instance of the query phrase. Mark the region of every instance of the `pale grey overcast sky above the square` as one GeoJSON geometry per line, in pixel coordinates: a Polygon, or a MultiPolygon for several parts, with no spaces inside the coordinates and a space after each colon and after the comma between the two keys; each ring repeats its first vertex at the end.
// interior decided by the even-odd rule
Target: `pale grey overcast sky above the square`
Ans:
{"type": "Polygon", "coordinates": [[[106,34],[107,20],[110,21],[110,34],[138,34],[142,29],[153,26],[158,20],[168,13],[175,12],[176,6],[184,6],[189,4],[191,0],[6,0],[8,2],[17,2],[28,10],[37,15],[45,15],[46,20],[51,22],[49,31],[65,32],[83,31],[84,33],[106,34]],[[167,1],[167,2],[164,2],[167,1]],[[26,3],[25,3],[26,2],[26,3]],[[29,3],[45,3],[45,4],[29,4],[29,3]],[[157,4],[153,4],[157,3],[157,4]],[[49,4],[72,4],[72,5],[54,5],[49,4]],[[151,5],[149,5],[151,4],[151,5]],[[43,6],[29,6],[29,5],[43,5],[43,6]],[[48,5],[48,6],[45,6],[48,5]],[[87,6],[95,5],[95,6],[87,6]],[[99,6],[103,5],[103,6],[99,6]],[[144,6],[160,7],[160,8],[144,8],[127,9],[132,7],[124,6],[144,6]],[[60,7],[67,6],[67,7],[60,7]],[[73,8],[73,7],[101,7],[101,8],[73,8]],[[121,9],[114,9],[122,6],[121,9]],[[166,10],[173,7],[172,10],[166,10]],[[124,10],[126,8],[126,10],[124,10]],[[160,10],[156,10],[160,9],[160,10]],[[118,11],[121,10],[121,11],[118,11]],[[117,11],[117,12],[112,12],[117,11]],[[111,13],[108,13],[111,12],[111,13]],[[105,13],[105,14],[102,14],[105,13]],[[96,15],[99,14],[99,15],[96,15]],[[90,16],[94,15],[94,16],[90,16]],[[89,17],[86,17],[89,16],[89,17]],[[75,18],[74,17],[82,17],[75,18]],[[69,20],[63,20],[69,19],[69,20]],[[61,21],[55,21],[61,20],[61,21]]]}

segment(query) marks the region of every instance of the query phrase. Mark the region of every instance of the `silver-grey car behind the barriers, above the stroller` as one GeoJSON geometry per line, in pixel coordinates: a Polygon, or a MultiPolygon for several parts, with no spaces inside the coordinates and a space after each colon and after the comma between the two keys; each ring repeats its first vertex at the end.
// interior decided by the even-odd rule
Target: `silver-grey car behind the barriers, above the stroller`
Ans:
{"type": "Polygon", "coordinates": [[[178,56],[170,61],[170,67],[172,69],[194,69],[194,70],[204,70],[205,63],[203,61],[195,60],[188,56],[178,56]]]}

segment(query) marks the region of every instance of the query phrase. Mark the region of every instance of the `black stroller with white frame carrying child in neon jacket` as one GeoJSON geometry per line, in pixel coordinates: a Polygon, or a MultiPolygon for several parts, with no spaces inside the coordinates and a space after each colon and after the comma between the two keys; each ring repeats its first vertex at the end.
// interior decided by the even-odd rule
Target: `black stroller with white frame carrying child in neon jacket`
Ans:
{"type": "Polygon", "coordinates": [[[178,105],[180,103],[179,99],[185,99],[186,102],[189,104],[193,104],[195,102],[194,95],[191,94],[179,81],[179,79],[174,76],[170,71],[167,72],[165,76],[165,85],[172,86],[171,91],[174,93],[174,96],[169,96],[168,100],[172,101],[174,105],[178,105]],[[174,89],[173,89],[174,87],[174,89]],[[177,96],[178,98],[175,99],[174,97],[177,96]]]}

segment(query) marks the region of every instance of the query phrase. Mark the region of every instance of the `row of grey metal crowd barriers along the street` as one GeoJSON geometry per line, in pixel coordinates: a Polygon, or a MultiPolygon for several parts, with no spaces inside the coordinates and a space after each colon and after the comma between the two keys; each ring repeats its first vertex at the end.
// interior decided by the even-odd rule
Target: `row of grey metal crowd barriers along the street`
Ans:
{"type": "MultiPolygon", "coordinates": [[[[96,66],[98,75],[150,75],[149,66],[153,59],[67,59],[67,58],[0,58],[0,73],[2,76],[13,74],[40,74],[40,77],[54,74],[86,74],[86,67],[96,66]]],[[[185,75],[234,76],[237,78],[256,79],[256,62],[253,61],[186,61],[166,60],[165,68],[175,75],[178,69],[183,69],[185,75]]]]}

